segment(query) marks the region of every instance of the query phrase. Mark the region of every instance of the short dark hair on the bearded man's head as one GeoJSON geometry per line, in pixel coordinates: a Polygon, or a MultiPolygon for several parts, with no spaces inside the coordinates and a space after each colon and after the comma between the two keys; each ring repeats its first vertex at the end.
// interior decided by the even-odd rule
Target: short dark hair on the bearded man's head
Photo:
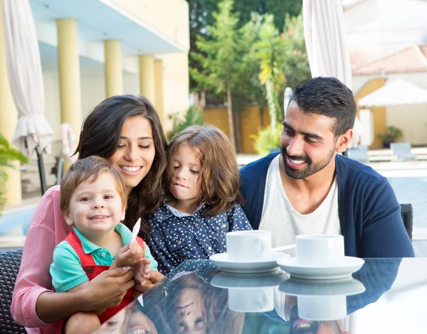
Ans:
{"type": "Polygon", "coordinates": [[[353,92],[336,77],[313,77],[298,85],[290,101],[297,102],[306,114],[320,114],[335,119],[334,136],[354,126],[357,107],[353,92]]]}

